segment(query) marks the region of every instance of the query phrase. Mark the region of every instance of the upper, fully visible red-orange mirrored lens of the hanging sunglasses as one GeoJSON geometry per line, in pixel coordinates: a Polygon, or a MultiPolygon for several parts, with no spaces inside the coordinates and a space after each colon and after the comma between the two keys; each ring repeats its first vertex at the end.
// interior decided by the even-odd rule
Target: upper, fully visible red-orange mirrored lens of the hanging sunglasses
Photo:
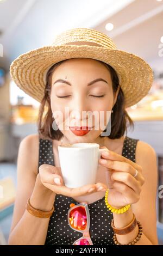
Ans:
{"type": "Polygon", "coordinates": [[[77,230],[86,229],[87,217],[85,207],[78,206],[77,208],[70,211],[69,220],[72,228],[77,230]]]}

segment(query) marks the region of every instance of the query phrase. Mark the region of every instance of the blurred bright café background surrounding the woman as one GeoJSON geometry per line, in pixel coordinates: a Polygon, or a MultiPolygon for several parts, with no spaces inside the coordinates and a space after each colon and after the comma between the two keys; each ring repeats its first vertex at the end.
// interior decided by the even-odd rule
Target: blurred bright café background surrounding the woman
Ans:
{"type": "Polygon", "coordinates": [[[150,92],[127,109],[135,124],[127,135],[151,144],[158,156],[157,230],[163,244],[162,0],[0,0],[0,244],[7,244],[12,220],[18,147],[25,136],[37,133],[39,108],[11,80],[9,66],[20,54],[51,44],[56,34],[75,27],[108,34],[117,48],[152,66],[150,92]]]}

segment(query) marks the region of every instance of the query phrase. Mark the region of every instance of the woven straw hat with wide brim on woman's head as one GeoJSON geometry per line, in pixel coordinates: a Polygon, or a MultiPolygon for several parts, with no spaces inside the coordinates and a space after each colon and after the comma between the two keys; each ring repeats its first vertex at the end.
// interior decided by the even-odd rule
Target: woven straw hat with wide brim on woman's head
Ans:
{"type": "Polygon", "coordinates": [[[48,69],[71,58],[91,58],[112,66],[120,80],[125,107],[139,102],[152,86],[153,72],[145,60],[117,50],[107,35],[88,28],[70,29],[57,35],[52,45],[21,54],[11,63],[10,74],[18,87],[41,101],[48,69]]]}

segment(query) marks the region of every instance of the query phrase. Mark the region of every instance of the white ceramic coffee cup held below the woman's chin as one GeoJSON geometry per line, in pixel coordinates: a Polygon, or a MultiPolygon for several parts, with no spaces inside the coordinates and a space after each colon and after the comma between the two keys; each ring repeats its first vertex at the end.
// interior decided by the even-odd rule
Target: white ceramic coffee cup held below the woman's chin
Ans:
{"type": "Polygon", "coordinates": [[[65,186],[75,188],[95,184],[101,151],[97,143],[74,143],[58,146],[65,186]]]}

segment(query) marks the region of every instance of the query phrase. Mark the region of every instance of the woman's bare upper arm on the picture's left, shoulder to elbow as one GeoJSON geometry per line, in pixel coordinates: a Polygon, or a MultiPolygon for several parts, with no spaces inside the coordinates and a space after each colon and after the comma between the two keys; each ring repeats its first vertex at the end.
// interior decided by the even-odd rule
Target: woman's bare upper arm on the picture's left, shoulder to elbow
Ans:
{"type": "Polygon", "coordinates": [[[14,204],[11,230],[20,221],[27,199],[35,186],[39,161],[39,135],[29,135],[22,139],[17,157],[17,192],[14,204]]]}

